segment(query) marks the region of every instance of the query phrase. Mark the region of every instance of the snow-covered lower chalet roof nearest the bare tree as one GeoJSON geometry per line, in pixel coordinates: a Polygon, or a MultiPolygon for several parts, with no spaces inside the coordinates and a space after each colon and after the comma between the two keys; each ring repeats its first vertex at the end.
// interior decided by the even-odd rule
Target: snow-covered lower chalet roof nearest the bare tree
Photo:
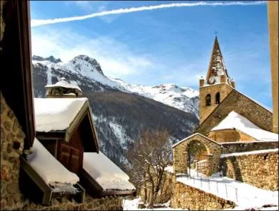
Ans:
{"type": "Polygon", "coordinates": [[[84,153],[83,169],[98,182],[104,190],[135,190],[129,176],[101,151],[99,153],[84,153]]]}

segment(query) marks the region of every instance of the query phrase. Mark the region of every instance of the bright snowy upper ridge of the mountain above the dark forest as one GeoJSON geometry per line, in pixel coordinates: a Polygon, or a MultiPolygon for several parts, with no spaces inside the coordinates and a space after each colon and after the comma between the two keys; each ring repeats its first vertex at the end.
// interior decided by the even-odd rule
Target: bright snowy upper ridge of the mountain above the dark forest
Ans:
{"type": "MultiPolygon", "coordinates": [[[[128,84],[121,79],[112,79],[105,76],[98,61],[85,55],[75,56],[75,58],[68,62],[58,63],[53,63],[53,60],[42,61],[42,57],[33,56],[33,58],[36,59],[37,57],[40,58],[40,61],[33,60],[33,65],[42,64],[47,67],[47,84],[52,84],[52,72],[50,71],[52,68],[55,70],[63,70],[77,75],[82,75],[92,81],[96,81],[104,86],[114,88],[119,91],[136,93],[138,95],[148,97],[176,109],[190,112],[199,118],[197,97],[199,95],[199,91],[195,91],[193,88],[179,87],[175,84],[160,84],[158,86],[128,84]]],[[[71,81],[71,83],[72,82],[73,81],[71,81]]]]}

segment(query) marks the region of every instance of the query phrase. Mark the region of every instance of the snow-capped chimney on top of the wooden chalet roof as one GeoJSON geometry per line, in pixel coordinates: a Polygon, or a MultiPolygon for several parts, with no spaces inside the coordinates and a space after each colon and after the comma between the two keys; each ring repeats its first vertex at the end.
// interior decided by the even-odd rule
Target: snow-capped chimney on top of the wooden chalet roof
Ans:
{"type": "Polygon", "coordinates": [[[56,84],[45,86],[46,97],[82,97],[82,90],[75,84],[70,84],[62,77],[56,84]]]}

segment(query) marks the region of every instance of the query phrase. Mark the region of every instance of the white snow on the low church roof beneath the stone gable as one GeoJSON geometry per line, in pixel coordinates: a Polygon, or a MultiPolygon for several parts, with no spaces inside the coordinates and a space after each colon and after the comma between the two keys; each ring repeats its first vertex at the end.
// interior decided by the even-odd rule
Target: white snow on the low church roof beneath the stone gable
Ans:
{"type": "Polygon", "coordinates": [[[234,128],[260,141],[278,141],[278,134],[262,130],[247,118],[237,114],[235,111],[231,111],[227,117],[216,127],[213,127],[211,131],[234,128]]]}

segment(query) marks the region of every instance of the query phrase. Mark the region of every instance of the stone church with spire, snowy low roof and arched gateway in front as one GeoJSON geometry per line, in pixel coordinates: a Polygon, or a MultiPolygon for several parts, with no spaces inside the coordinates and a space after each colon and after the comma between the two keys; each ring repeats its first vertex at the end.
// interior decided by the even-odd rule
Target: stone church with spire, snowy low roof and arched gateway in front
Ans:
{"type": "Polygon", "coordinates": [[[236,85],[216,36],[206,78],[199,79],[199,127],[172,146],[175,173],[189,174],[196,166],[211,175],[222,170],[223,154],[278,148],[273,111],[237,91],[236,85]]]}

